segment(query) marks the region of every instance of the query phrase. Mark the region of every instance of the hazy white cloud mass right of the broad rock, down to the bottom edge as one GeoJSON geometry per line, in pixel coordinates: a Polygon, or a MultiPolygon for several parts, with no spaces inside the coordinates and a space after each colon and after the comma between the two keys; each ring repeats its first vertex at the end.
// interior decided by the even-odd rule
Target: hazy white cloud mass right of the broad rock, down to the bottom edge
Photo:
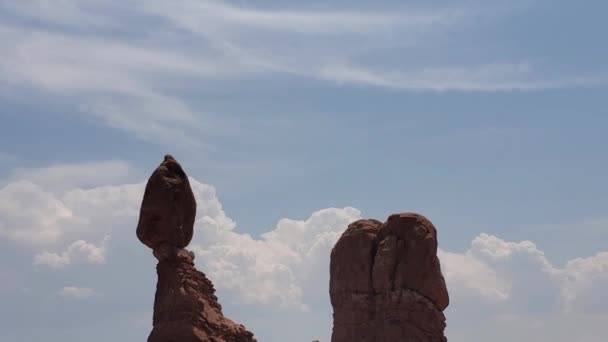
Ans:
{"type": "Polygon", "coordinates": [[[451,341],[602,341],[605,252],[558,267],[531,241],[480,234],[466,252],[439,256],[451,341]]]}

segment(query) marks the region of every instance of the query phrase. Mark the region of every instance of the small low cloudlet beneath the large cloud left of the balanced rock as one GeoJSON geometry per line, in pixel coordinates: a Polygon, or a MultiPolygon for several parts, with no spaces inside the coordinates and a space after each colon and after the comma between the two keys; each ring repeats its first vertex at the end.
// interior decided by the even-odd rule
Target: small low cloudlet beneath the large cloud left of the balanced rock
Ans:
{"type": "Polygon", "coordinates": [[[110,236],[106,236],[99,246],[84,240],[74,241],[65,251],[51,253],[44,251],[34,256],[34,265],[46,265],[61,268],[75,263],[103,264],[105,261],[106,244],[110,236]]]}

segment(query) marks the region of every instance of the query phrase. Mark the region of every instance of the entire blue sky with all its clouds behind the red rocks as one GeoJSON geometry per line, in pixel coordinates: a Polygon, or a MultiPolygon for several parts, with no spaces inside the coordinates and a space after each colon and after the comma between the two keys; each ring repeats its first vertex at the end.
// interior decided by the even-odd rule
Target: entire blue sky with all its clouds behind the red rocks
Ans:
{"type": "Polygon", "coordinates": [[[327,341],[331,246],[398,211],[438,227],[450,341],[603,341],[607,10],[0,0],[0,340],[145,338],[137,209],[172,153],[261,341],[327,341]]]}

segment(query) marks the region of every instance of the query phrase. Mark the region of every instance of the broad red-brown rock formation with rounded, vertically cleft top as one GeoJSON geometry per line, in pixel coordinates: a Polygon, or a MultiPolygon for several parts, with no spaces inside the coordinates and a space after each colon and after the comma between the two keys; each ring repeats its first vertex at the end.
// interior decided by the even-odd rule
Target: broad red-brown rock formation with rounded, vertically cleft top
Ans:
{"type": "Polygon", "coordinates": [[[415,213],[351,223],[331,252],[332,342],[447,342],[437,230],[415,213]]]}

